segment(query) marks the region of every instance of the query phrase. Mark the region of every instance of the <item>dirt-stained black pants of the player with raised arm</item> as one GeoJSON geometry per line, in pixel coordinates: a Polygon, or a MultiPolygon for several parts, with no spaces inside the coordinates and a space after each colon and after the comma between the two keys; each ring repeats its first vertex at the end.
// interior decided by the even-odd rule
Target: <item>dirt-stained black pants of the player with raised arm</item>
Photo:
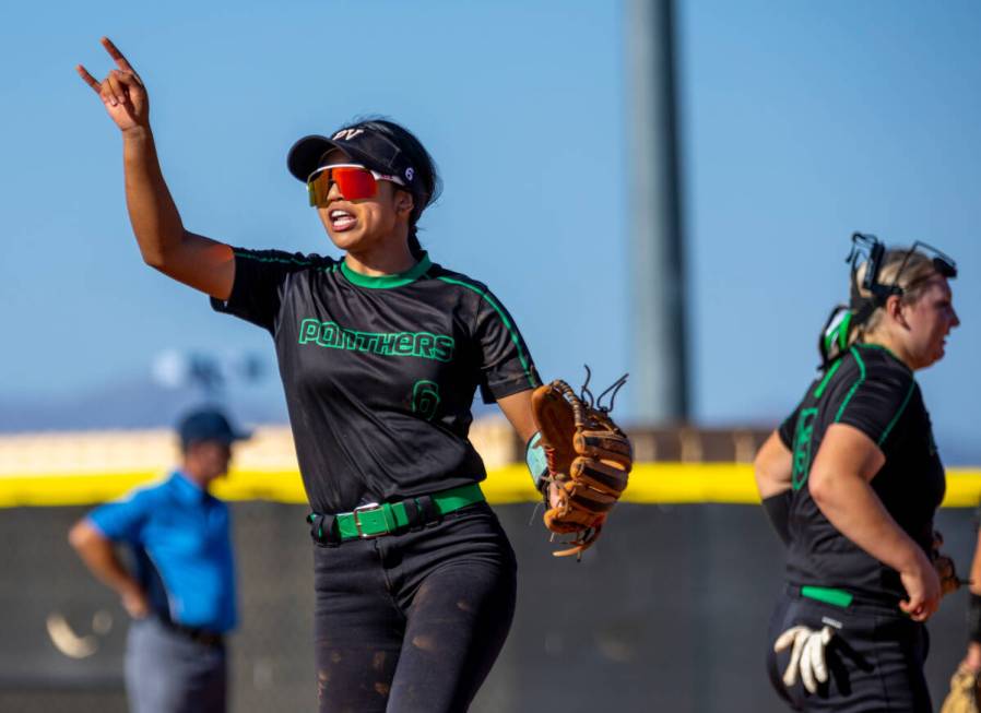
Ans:
{"type": "Polygon", "coordinates": [[[314,548],[321,713],[459,713],[507,639],[517,563],[486,502],[314,548]]]}

